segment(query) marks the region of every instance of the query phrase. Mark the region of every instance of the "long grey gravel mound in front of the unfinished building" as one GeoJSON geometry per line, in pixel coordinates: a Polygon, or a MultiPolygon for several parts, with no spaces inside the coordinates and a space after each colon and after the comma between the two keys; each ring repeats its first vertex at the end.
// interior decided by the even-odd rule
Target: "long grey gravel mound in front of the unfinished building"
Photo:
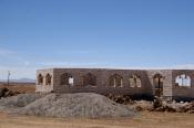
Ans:
{"type": "Polygon", "coordinates": [[[116,104],[105,96],[92,93],[50,94],[41,98],[35,95],[25,95],[23,98],[21,97],[22,96],[19,95],[9,97],[8,100],[0,100],[0,106],[4,106],[7,109],[17,108],[12,110],[12,113],[16,114],[47,117],[98,118],[134,115],[134,111],[129,109],[125,105],[116,104]]]}

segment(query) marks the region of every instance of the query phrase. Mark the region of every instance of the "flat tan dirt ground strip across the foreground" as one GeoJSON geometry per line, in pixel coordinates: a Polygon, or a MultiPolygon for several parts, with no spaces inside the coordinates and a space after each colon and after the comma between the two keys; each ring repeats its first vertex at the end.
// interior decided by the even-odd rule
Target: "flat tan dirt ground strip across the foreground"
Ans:
{"type": "Polygon", "coordinates": [[[43,118],[0,113],[0,128],[194,128],[193,114],[143,111],[134,118],[43,118]]]}

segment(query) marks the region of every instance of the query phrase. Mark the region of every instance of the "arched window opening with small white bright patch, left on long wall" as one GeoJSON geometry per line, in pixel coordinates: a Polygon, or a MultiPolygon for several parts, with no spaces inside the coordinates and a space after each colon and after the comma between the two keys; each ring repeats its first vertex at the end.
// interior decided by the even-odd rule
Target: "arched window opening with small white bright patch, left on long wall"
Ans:
{"type": "Polygon", "coordinates": [[[73,85],[74,78],[71,74],[64,73],[61,75],[61,85],[73,85]]]}

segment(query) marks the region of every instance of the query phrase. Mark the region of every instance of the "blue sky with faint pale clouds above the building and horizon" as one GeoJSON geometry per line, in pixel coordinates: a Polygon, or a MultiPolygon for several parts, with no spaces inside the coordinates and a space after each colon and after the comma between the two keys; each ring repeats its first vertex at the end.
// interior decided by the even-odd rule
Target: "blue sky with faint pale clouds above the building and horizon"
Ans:
{"type": "Polygon", "coordinates": [[[0,0],[0,79],[193,64],[194,0],[0,0]]]}

